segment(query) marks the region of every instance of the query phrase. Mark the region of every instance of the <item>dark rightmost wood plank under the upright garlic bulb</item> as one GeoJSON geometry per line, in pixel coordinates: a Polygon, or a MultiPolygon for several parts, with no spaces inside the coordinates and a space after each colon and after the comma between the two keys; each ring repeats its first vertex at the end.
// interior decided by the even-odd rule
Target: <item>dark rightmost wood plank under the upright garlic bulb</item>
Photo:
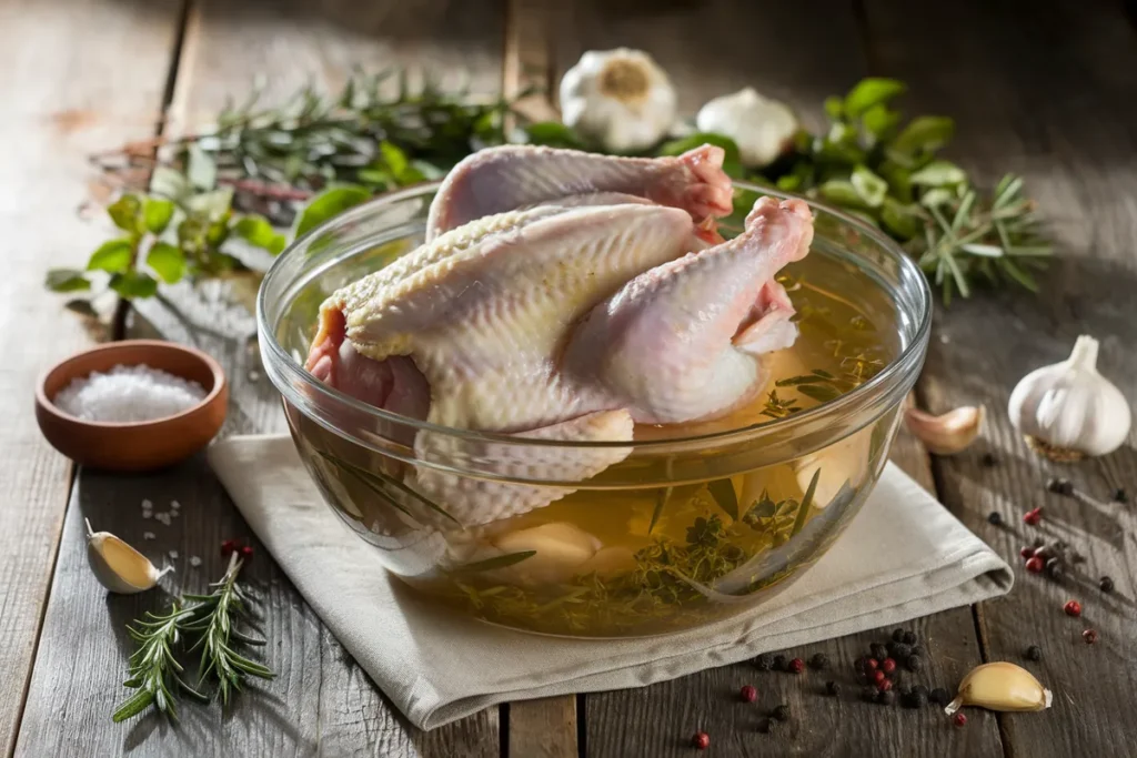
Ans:
{"type": "Polygon", "coordinates": [[[865,11],[875,73],[907,81],[913,107],[955,116],[953,156],[986,182],[1022,173],[1061,255],[1038,297],[980,294],[941,311],[920,385],[932,410],[984,402],[990,411],[985,444],[997,466],[981,465],[985,448],[935,461],[953,513],[1013,563],[1038,535],[1068,540],[1087,557],[1061,584],[1022,572],[1007,598],[980,608],[990,658],[1027,666],[1055,693],[1045,714],[1001,716],[1004,734],[1013,755],[1137,755],[1128,707],[1137,680],[1132,507],[1098,509],[1044,491],[1059,475],[1106,500],[1117,486],[1132,492],[1134,436],[1106,458],[1051,465],[1018,439],[1005,411],[1018,380],[1064,358],[1078,334],[1102,340],[1103,373],[1137,397],[1137,175],[1124,158],[1137,149],[1132,27],[1115,3],[1043,2],[1029,14],[997,3],[924,5],[915,14],[881,0],[865,11]],[[1038,506],[1046,508],[1043,527],[1023,525],[1021,514],[1038,506]],[[1012,526],[990,526],[991,510],[1012,526]],[[1102,574],[1113,576],[1117,594],[1096,589],[1102,574]],[[1062,613],[1070,598],[1082,603],[1082,619],[1062,613]],[[1093,648],[1080,636],[1089,626],[1102,640],[1093,648]],[[1023,661],[1030,644],[1043,647],[1041,663],[1023,661]]]}

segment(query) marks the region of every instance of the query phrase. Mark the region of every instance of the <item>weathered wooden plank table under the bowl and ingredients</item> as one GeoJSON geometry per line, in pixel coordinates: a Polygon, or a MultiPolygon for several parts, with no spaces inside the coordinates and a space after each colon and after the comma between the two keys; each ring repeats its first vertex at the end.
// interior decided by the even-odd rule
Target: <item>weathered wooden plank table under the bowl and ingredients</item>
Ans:
{"type": "MultiPolygon", "coordinates": [[[[1131,6],[1130,6],[1131,11],[1131,6]]],[[[902,0],[789,3],[580,0],[0,0],[0,92],[6,145],[0,218],[0,748],[28,756],[681,756],[705,728],[717,756],[1122,756],[1137,755],[1135,506],[1076,505],[1044,491],[1051,475],[1109,499],[1137,491],[1132,445],[1099,460],[1054,466],[1007,424],[1014,382],[1069,351],[1080,333],[1103,341],[1102,368],[1137,398],[1137,35],[1120,2],[1022,6],[902,0]],[[993,6],[993,7],[987,7],[993,6]],[[555,8],[563,7],[557,10],[555,8]],[[650,7],[650,10],[648,8],[650,7]],[[229,95],[267,76],[267,94],[306,80],[334,85],[355,65],[426,66],[478,92],[555,83],[587,49],[650,50],[673,75],[682,106],[753,84],[816,126],[820,103],[866,74],[911,85],[911,111],[954,116],[952,157],[985,182],[1012,170],[1053,222],[1061,257],[1043,294],[981,293],[937,313],[916,401],[941,411],[986,403],[982,441],[936,458],[903,436],[894,459],[1011,560],[1006,598],[911,625],[929,641],[927,681],[953,688],[973,665],[1013,660],[1054,691],[1052,710],[969,711],[953,728],[935,709],[883,708],[820,694],[827,676],[760,674],[740,664],[641,690],[515,702],[422,733],[410,727],[321,625],[262,552],[249,569],[265,599],[267,659],[277,678],[257,684],[232,713],[188,706],[172,726],[148,717],[114,725],[130,641],[124,624],[149,597],[107,597],[85,565],[82,522],[151,555],[166,552],[180,580],[202,586],[222,572],[217,545],[250,539],[204,459],[144,476],[74,470],[42,441],[32,389],[50,363],[99,339],[158,334],[196,344],[229,370],[226,433],[283,427],[262,376],[254,324],[217,286],[175,290],[185,314],[150,302],[113,334],[84,328],[41,289],[44,269],[81,264],[105,230],[73,210],[85,199],[84,157],[127,139],[174,133],[208,119],[229,95]],[[159,119],[159,114],[167,119],[159,119]],[[994,466],[982,457],[994,456],[994,466]],[[143,520],[182,503],[167,526],[143,520]],[[1022,573],[1019,517],[1045,506],[1047,528],[1088,556],[1061,584],[1022,573]],[[987,522],[1001,513],[1010,527],[987,522]],[[155,540],[143,539],[143,532],[155,540]],[[176,552],[176,558],[173,556],[176,552]],[[192,567],[190,558],[204,559],[192,567]],[[1104,595],[1096,577],[1110,574],[1104,595]],[[1078,598],[1081,622],[1062,603],[1078,598]],[[1094,626],[1101,642],[1082,643],[1094,626]],[[1045,658],[1023,661],[1041,645],[1045,658]],[[794,718],[762,734],[753,710],[731,707],[742,683],[794,718]]],[[[1130,440],[1134,438],[1130,436],[1130,440]]],[[[841,678],[887,631],[823,644],[841,678]]]]}

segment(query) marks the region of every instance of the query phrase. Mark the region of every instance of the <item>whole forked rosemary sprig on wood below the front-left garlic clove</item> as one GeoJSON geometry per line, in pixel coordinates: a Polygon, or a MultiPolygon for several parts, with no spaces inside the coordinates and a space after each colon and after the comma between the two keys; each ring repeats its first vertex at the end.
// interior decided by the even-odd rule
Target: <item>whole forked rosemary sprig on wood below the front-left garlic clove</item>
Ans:
{"type": "Polygon", "coordinates": [[[210,585],[209,594],[186,594],[165,614],[147,613],[143,619],[127,627],[139,649],[131,655],[130,678],[123,685],[136,692],[115,709],[113,719],[116,723],[141,714],[151,705],[176,720],[175,700],[180,693],[209,702],[208,694],[183,678],[184,668],[177,660],[180,652],[201,648],[198,684],[216,680],[223,705],[229,705],[231,692],[241,689],[246,676],[274,676],[263,664],[234,649],[236,644],[264,644],[236,628],[249,620],[250,599],[236,581],[242,565],[234,552],[225,575],[210,585]],[[192,647],[185,650],[184,641],[194,639],[192,647]]]}

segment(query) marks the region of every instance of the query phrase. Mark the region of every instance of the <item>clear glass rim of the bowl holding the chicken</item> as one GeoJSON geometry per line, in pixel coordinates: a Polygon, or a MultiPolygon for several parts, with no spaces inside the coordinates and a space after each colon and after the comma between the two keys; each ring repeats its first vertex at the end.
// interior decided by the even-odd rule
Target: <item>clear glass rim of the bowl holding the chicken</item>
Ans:
{"type": "MultiPolygon", "coordinates": [[[[304,368],[302,365],[299,365],[292,356],[284,350],[276,339],[275,325],[268,324],[266,292],[269,283],[274,281],[275,276],[280,275],[280,269],[288,263],[290,257],[294,255],[304,255],[312,242],[317,240],[322,234],[345,226],[350,226],[351,224],[366,218],[377,209],[385,206],[404,200],[421,198],[426,192],[435,191],[439,186],[441,186],[442,181],[445,180],[422,182],[392,192],[384,192],[340,214],[339,216],[324,222],[319,226],[309,230],[304,235],[293,240],[291,244],[281,251],[281,253],[273,261],[272,266],[269,266],[268,270],[265,273],[264,280],[260,283],[260,289],[257,292],[258,338],[263,353],[264,351],[267,351],[269,357],[269,360],[264,361],[265,368],[273,384],[276,386],[277,391],[281,392],[284,400],[299,408],[301,413],[305,413],[304,409],[312,405],[313,394],[315,394],[333,403],[346,406],[347,408],[364,414],[377,422],[398,424],[416,431],[425,431],[432,434],[476,442],[559,449],[632,448],[645,451],[653,449],[666,450],[672,447],[686,447],[692,444],[698,447],[711,443],[729,445],[748,440],[756,435],[781,433],[786,430],[792,428],[794,426],[808,426],[819,418],[833,416],[843,411],[855,411],[862,406],[870,406],[874,397],[882,392],[888,392],[888,388],[896,383],[897,377],[908,377],[910,381],[905,382],[905,384],[907,384],[905,388],[906,393],[911,388],[911,384],[915,382],[915,375],[923,363],[923,356],[931,334],[933,309],[931,286],[919,265],[899,247],[899,244],[897,244],[890,236],[885,234],[878,227],[828,203],[819,202],[812,198],[806,198],[790,192],[782,192],[775,189],[760,186],[750,182],[732,181],[732,186],[735,189],[747,190],[762,195],[779,198],[781,200],[803,200],[812,209],[820,210],[835,217],[841,224],[852,227],[864,236],[868,236],[872,240],[872,242],[886,250],[899,266],[901,270],[897,273],[898,278],[904,281],[914,281],[916,283],[915,300],[919,309],[919,313],[916,314],[916,317],[919,318],[916,328],[914,330],[912,339],[908,343],[904,345],[901,352],[894,357],[879,374],[835,400],[823,402],[813,408],[794,414],[792,416],[752,424],[749,426],[733,430],[694,434],[688,436],[661,438],[655,440],[582,442],[518,438],[516,435],[500,432],[483,432],[434,424],[428,420],[410,418],[409,416],[402,416],[389,410],[383,410],[382,408],[376,408],[316,380],[304,368]],[[281,374],[284,374],[285,376],[282,376],[281,374]],[[297,390],[297,382],[305,388],[305,392],[297,390]],[[306,397],[305,393],[309,394],[306,397]]],[[[305,415],[308,414],[306,413],[305,415]]],[[[321,425],[326,426],[323,422],[319,423],[321,425]]],[[[329,428],[329,431],[341,436],[346,434],[342,430],[329,428]]]]}

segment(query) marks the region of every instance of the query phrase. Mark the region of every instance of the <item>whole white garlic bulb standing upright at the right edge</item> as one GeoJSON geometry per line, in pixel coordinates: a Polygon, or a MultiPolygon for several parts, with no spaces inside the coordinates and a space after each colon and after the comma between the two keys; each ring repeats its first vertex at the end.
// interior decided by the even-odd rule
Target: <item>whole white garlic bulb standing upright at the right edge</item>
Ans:
{"type": "Polygon", "coordinates": [[[1011,393],[1011,424],[1044,455],[1104,456],[1129,436],[1129,403],[1097,373],[1097,340],[1079,336],[1067,360],[1032,370],[1011,393]]]}

